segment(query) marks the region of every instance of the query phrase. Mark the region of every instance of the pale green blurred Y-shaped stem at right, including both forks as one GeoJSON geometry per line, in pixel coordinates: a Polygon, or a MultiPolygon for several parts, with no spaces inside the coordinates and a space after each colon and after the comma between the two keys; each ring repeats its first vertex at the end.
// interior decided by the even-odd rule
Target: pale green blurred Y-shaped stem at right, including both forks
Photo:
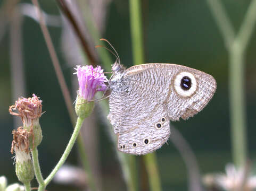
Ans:
{"type": "Polygon", "coordinates": [[[245,50],[256,21],[256,0],[252,0],[238,33],[227,16],[220,0],[207,0],[225,46],[229,53],[229,98],[233,160],[237,167],[244,166],[247,158],[245,108],[245,50]]]}

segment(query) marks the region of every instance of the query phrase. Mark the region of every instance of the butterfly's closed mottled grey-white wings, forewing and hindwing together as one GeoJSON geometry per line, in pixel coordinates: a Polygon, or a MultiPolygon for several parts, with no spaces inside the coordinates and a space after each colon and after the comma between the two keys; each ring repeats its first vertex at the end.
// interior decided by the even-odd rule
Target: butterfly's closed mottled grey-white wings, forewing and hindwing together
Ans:
{"type": "Polygon", "coordinates": [[[202,110],[215,89],[212,76],[185,66],[144,64],[128,68],[109,100],[108,117],[118,135],[118,149],[131,154],[158,149],[169,138],[169,120],[187,119],[202,110]],[[180,89],[183,75],[192,79],[192,88],[185,92],[180,89]]]}

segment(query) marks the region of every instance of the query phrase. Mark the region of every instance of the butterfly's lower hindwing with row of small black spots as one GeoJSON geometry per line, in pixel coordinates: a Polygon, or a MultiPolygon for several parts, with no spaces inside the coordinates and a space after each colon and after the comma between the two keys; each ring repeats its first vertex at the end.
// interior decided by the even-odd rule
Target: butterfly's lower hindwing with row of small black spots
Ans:
{"type": "Polygon", "coordinates": [[[159,102],[161,94],[154,89],[124,77],[122,85],[111,91],[108,117],[118,135],[120,151],[146,154],[168,140],[169,118],[159,102]]]}

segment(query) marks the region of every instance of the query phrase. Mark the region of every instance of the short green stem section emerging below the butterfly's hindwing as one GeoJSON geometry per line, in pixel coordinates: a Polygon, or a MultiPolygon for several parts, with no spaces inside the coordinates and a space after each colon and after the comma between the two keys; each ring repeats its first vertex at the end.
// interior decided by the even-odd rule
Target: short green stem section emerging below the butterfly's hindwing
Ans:
{"type": "Polygon", "coordinates": [[[155,153],[149,153],[143,156],[145,167],[148,173],[150,188],[152,191],[160,191],[161,190],[161,181],[158,172],[158,166],[156,162],[155,153]]]}

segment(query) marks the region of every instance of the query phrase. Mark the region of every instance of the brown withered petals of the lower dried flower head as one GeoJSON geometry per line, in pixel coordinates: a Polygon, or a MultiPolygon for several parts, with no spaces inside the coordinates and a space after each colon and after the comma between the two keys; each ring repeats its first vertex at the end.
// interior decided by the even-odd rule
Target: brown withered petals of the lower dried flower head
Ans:
{"type": "Polygon", "coordinates": [[[32,137],[32,144],[34,147],[34,134],[32,128],[30,132],[23,127],[18,127],[17,131],[13,130],[13,141],[12,141],[12,148],[11,153],[13,154],[13,150],[15,151],[16,155],[22,152],[29,153],[29,145],[30,145],[30,137],[32,137]]]}

